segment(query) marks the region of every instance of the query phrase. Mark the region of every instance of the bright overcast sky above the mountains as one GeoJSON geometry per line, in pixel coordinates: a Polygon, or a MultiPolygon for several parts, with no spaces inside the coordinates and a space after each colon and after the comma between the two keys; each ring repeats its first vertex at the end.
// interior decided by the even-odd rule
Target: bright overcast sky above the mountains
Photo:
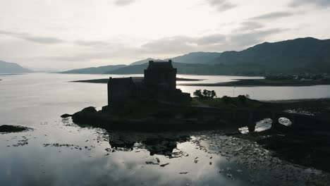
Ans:
{"type": "Polygon", "coordinates": [[[330,38],[330,0],[0,0],[0,60],[66,70],[330,38]]]}

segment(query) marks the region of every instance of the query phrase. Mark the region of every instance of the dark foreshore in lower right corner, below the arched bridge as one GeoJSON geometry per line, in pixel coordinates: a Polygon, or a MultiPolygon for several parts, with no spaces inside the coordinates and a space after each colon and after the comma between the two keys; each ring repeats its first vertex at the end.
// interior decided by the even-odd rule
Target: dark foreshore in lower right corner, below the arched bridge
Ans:
{"type": "Polygon", "coordinates": [[[265,130],[247,135],[233,135],[256,142],[264,149],[274,152],[274,156],[306,167],[317,168],[330,173],[329,130],[293,131],[265,130]]]}

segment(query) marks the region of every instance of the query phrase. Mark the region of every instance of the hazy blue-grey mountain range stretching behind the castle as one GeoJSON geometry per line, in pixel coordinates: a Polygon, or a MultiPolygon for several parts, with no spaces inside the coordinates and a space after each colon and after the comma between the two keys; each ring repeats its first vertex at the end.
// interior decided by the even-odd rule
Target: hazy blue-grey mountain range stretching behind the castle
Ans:
{"type": "MultiPolygon", "coordinates": [[[[264,73],[330,73],[330,39],[312,37],[264,42],[243,51],[193,52],[171,58],[178,73],[199,75],[262,75],[264,73]]],[[[147,58],[129,66],[103,66],[63,73],[142,73],[147,58]]],[[[167,59],[164,59],[167,60],[167,59]]]]}

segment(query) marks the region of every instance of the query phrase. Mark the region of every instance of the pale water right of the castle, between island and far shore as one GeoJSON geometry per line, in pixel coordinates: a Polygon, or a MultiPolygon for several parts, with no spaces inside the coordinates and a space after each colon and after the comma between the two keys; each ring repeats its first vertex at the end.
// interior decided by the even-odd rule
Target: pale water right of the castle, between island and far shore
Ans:
{"type": "MultiPolygon", "coordinates": [[[[196,82],[180,83],[216,83],[230,82],[237,79],[261,79],[263,77],[242,77],[223,75],[178,75],[192,79],[204,79],[196,82]]],[[[330,97],[330,85],[317,85],[310,87],[195,87],[179,86],[183,92],[193,93],[196,89],[214,89],[218,97],[249,94],[252,99],[257,100],[284,100],[284,99],[315,99],[330,97]]]]}

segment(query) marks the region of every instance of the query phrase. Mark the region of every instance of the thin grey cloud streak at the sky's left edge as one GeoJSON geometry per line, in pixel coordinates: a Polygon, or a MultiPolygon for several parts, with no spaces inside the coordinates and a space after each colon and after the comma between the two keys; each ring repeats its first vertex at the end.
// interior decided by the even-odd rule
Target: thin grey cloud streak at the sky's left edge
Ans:
{"type": "Polygon", "coordinates": [[[0,35],[8,35],[11,37],[16,37],[18,39],[25,39],[26,41],[36,42],[39,44],[59,44],[64,42],[63,40],[58,39],[56,37],[38,37],[38,36],[32,36],[25,32],[8,32],[8,31],[0,30],[0,35]]]}

